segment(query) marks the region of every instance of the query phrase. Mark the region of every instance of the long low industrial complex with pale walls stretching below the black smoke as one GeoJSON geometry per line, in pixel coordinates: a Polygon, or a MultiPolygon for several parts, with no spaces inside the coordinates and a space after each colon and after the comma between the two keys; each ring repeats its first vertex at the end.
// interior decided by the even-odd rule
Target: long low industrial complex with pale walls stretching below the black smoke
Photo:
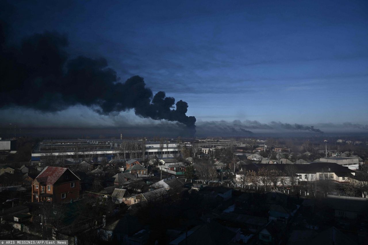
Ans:
{"type": "MultiPolygon", "coordinates": [[[[181,146],[198,145],[199,148],[210,146],[239,145],[240,142],[227,140],[195,140],[182,139],[181,146]]],[[[32,151],[32,161],[109,161],[113,159],[132,159],[157,156],[159,158],[172,158],[181,154],[181,147],[177,139],[165,142],[151,140],[127,139],[57,139],[44,140],[32,151]]]]}

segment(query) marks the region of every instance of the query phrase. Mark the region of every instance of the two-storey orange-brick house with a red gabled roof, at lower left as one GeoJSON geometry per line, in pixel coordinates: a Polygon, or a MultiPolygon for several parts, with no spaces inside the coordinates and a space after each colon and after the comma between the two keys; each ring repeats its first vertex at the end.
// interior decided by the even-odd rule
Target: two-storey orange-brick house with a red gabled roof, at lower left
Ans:
{"type": "Polygon", "coordinates": [[[77,200],[80,181],[69,168],[47,166],[32,181],[32,202],[77,200]]]}

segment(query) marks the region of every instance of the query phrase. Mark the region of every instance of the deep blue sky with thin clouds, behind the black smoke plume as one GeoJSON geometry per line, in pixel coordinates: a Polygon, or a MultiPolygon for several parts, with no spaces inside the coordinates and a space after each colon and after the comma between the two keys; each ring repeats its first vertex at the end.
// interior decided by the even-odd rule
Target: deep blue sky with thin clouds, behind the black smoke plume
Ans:
{"type": "Polygon", "coordinates": [[[71,56],[106,57],[121,81],[140,75],[188,102],[197,122],[368,123],[367,1],[12,4],[14,40],[67,33],[71,56]]]}

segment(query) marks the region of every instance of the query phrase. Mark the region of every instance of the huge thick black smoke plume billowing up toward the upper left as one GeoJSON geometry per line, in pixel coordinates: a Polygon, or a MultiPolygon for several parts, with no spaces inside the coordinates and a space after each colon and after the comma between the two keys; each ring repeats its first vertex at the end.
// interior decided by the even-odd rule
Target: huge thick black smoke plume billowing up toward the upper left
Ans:
{"type": "Polygon", "coordinates": [[[71,59],[67,37],[57,32],[34,34],[12,47],[0,24],[0,108],[55,112],[80,104],[105,115],[134,109],[138,116],[177,121],[194,130],[196,119],[186,115],[188,104],[175,103],[162,91],[153,95],[142,77],[120,82],[105,58],[71,59]]]}

